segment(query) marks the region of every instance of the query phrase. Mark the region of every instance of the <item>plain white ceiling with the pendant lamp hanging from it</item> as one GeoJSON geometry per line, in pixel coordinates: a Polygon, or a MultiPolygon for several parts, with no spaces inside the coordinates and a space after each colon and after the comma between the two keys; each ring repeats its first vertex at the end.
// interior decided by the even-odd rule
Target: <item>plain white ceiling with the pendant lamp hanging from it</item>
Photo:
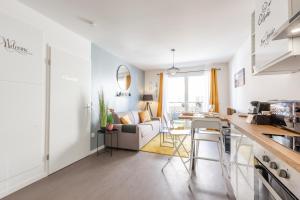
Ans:
{"type": "Polygon", "coordinates": [[[20,0],[145,70],[228,62],[250,33],[253,0],[20,0]],[[78,18],[96,23],[88,25],[78,18]]]}

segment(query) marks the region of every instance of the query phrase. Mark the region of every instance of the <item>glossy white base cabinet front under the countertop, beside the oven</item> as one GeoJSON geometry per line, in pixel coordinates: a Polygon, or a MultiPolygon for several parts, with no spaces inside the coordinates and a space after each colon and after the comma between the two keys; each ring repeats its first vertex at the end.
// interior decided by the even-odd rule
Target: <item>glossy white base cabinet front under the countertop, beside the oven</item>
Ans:
{"type": "Polygon", "coordinates": [[[253,141],[231,126],[230,182],[237,200],[254,199],[253,141]]]}

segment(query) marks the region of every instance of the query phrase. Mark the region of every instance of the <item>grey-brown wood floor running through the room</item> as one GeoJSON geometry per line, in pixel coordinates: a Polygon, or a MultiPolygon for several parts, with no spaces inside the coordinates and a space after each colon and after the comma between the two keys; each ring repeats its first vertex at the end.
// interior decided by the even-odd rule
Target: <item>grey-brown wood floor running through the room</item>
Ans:
{"type": "Polygon", "coordinates": [[[4,200],[218,200],[228,199],[220,165],[199,161],[188,189],[188,174],[175,158],[118,150],[94,154],[4,200]]]}

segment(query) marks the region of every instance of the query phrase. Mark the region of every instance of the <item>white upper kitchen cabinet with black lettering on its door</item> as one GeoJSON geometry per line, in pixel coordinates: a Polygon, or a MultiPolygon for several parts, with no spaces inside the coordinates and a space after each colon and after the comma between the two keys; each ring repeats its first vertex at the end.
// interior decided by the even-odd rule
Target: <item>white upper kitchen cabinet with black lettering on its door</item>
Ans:
{"type": "Polygon", "coordinates": [[[300,39],[274,40],[280,28],[299,10],[299,2],[256,0],[255,12],[251,17],[254,75],[286,74],[300,70],[300,39]]]}

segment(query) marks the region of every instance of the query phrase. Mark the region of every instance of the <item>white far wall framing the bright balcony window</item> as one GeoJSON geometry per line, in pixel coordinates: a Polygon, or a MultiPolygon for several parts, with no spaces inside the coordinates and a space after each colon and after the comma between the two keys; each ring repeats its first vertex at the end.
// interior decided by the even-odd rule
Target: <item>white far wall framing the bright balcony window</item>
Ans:
{"type": "MultiPolygon", "coordinates": [[[[226,113],[227,107],[229,106],[229,82],[228,82],[228,66],[227,64],[215,64],[211,65],[216,68],[220,68],[218,71],[218,91],[219,91],[219,101],[220,101],[220,112],[226,113]]],[[[193,68],[182,68],[182,71],[193,71],[193,70],[201,70],[201,69],[209,69],[208,66],[201,67],[193,67],[193,68]]],[[[153,94],[154,99],[157,100],[158,92],[155,92],[159,89],[159,74],[163,72],[163,70],[151,70],[145,72],[145,93],[153,94]]],[[[157,111],[157,101],[152,102],[151,109],[153,114],[156,115],[157,111]]]]}

